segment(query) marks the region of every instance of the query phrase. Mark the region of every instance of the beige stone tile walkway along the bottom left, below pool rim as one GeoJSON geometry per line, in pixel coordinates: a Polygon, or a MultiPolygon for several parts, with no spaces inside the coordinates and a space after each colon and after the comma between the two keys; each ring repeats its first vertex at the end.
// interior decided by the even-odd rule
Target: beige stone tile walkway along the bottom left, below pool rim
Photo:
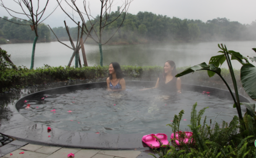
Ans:
{"type": "Polygon", "coordinates": [[[143,151],[62,148],[27,144],[18,140],[13,141],[13,144],[0,148],[1,158],[67,158],[71,152],[75,158],[153,158],[143,151]]]}

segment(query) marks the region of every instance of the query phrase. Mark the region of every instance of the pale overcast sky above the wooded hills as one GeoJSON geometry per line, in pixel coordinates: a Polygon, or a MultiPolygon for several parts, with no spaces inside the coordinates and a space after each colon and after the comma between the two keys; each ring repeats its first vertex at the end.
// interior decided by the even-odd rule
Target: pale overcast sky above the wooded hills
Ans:
{"type": "MultiPolygon", "coordinates": [[[[20,11],[18,6],[13,0],[2,0],[4,4],[13,9],[14,11],[20,11]]],[[[46,0],[40,1],[40,7],[43,7],[43,3],[46,0]]],[[[64,0],[63,0],[64,1],[64,0]]],[[[67,0],[69,1],[69,0],[67,0]]],[[[82,10],[82,0],[79,6],[82,10]]],[[[87,0],[90,2],[91,14],[93,16],[100,13],[100,0],[87,0]]],[[[37,2],[37,0],[33,0],[37,2]]],[[[0,2],[1,3],[1,2],[0,2]]],[[[50,0],[45,15],[53,11],[56,6],[56,0],[50,0]]],[[[66,5],[66,2],[61,3],[67,12],[72,13],[72,10],[66,5]]],[[[121,6],[121,0],[115,0],[115,6],[112,10],[117,10],[117,6],[121,6]]],[[[137,14],[138,12],[152,12],[155,14],[167,15],[168,17],[177,17],[180,19],[200,19],[203,22],[207,20],[215,19],[217,17],[227,18],[230,21],[238,21],[242,24],[251,24],[256,20],[256,0],[134,0],[128,12],[137,14]]],[[[15,14],[13,14],[15,15],[15,14]]],[[[7,11],[3,7],[0,7],[0,17],[8,16],[7,11]]],[[[17,15],[21,17],[22,15],[17,15]]],[[[61,8],[57,10],[44,21],[45,24],[49,24],[51,27],[64,26],[63,20],[67,21],[67,25],[74,27],[72,22],[61,8]]],[[[79,19],[77,19],[78,21],[79,19]]],[[[81,21],[81,20],[80,20],[81,21]]]]}

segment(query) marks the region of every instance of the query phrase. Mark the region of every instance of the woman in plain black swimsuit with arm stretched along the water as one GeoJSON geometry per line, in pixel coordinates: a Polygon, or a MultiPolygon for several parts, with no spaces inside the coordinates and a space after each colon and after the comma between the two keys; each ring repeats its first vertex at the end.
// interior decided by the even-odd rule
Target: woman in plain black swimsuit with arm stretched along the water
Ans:
{"type": "MultiPolygon", "coordinates": [[[[175,76],[177,75],[176,66],[174,61],[168,60],[164,63],[163,73],[158,76],[157,82],[154,88],[161,88],[168,91],[177,91],[181,93],[181,79],[175,76]]],[[[151,89],[145,88],[142,90],[151,89]]]]}

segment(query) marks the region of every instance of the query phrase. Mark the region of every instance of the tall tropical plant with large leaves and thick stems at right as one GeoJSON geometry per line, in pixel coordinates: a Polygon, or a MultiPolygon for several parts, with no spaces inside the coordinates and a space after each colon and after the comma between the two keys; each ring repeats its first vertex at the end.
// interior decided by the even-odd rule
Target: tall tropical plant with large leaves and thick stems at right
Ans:
{"type": "MultiPolygon", "coordinates": [[[[239,63],[241,63],[243,66],[241,68],[241,82],[243,85],[243,88],[245,92],[253,99],[256,100],[256,67],[249,63],[249,60],[247,57],[243,57],[239,52],[236,51],[228,51],[226,45],[223,46],[223,44],[218,44],[219,48],[222,53],[222,55],[214,56],[210,58],[209,64],[206,63],[201,63],[198,65],[195,65],[193,67],[190,67],[183,72],[177,74],[175,77],[180,77],[187,75],[191,72],[195,72],[198,70],[207,70],[208,71],[208,76],[212,77],[215,74],[219,75],[222,79],[222,81],[226,84],[226,86],[229,89],[230,94],[232,95],[233,101],[234,101],[234,106],[236,107],[237,114],[239,116],[240,120],[243,120],[242,116],[242,111],[241,111],[241,104],[244,105],[247,108],[247,114],[249,114],[251,117],[256,118],[255,112],[255,104],[250,104],[250,103],[240,103],[239,101],[239,94],[238,94],[238,88],[237,88],[237,83],[236,83],[236,77],[234,74],[234,70],[231,64],[231,60],[237,60],[239,63]],[[230,57],[231,56],[231,59],[230,57]],[[233,92],[231,91],[229,84],[225,81],[225,79],[221,75],[221,69],[219,66],[221,66],[225,61],[227,61],[228,66],[229,66],[229,72],[232,78],[232,82],[234,85],[235,89],[235,96],[233,92]]],[[[256,48],[253,48],[254,51],[256,51],[256,48]]],[[[251,58],[252,62],[255,61],[256,57],[251,58]]],[[[243,122],[242,122],[243,124],[243,122]]]]}

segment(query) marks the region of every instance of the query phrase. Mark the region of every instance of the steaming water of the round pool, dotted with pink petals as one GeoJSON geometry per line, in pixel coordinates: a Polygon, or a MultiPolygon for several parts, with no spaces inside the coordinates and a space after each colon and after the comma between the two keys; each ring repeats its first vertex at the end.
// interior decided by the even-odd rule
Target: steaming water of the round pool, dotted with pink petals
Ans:
{"type": "MultiPolygon", "coordinates": [[[[165,133],[175,114],[185,114],[180,128],[190,124],[190,112],[206,109],[207,122],[230,122],[237,115],[228,91],[182,84],[182,93],[168,93],[153,87],[155,82],[127,81],[123,92],[107,91],[106,82],[86,83],[40,91],[17,102],[20,114],[36,123],[86,133],[165,133]],[[206,93],[208,92],[208,93],[206,93]],[[27,108],[27,105],[30,105],[27,108]]],[[[240,95],[241,102],[249,102],[240,95]]],[[[243,114],[246,111],[242,107],[243,114]]],[[[202,118],[203,119],[203,118],[202,118]]]]}

